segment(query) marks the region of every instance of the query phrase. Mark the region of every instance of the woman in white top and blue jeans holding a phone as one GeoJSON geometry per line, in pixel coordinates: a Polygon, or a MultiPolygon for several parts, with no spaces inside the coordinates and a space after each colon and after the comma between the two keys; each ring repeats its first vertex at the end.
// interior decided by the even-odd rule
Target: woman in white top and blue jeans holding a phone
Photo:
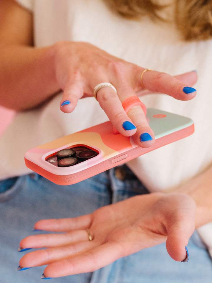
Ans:
{"type": "MultiPolygon", "coordinates": [[[[1,265],[2,276],[7,281],[15,278],[16,282],[37,282],[37,268],[18,276],[11,272],[14,247],[28,236],[32,223],[41,218],[84,214],[87,216],[74,220],[36,223],[36,230],[70,233],[65,234],[65,239],[64,235],[52,234],[21,241],[21,251],[49,249],[25,255],[19,262],[19,270],[49,264],[43,279],[80,273],[52,279],[55,282],[152,282],[153,274],[155,282],[199,282],[200,278],[207,282],[211,278],[211,260],[197,233],[192,236],[196,243],[191,240],[188,245],[193,254],[192,265],[191,259],[186,266],[171,261],[163,244],[158,244],[166,241],[167,251],[174,260],[188,261],[185,246],[194,226],[198,228],[211,221],[211,168],[206,170],[211,163],[211,136],[205,119],[211,117],[211,96],[206,92],[211,87],[207,70],[212,43],[196,41],[197,34],[203,34],[201,28],[193,35],[194,41],[185,42],[173,21],[150,19],[172,19],[175,3],[162,9],[149,1],[144,2],[144,7],[142,1],[135,2],[134,7],[131,2],[127,6],[115,1],[108,1],[106,6],[100,0],[1,2],[0,103],[20,111],[0,141],[4,160],[1,163],[4,263],[1,265]],[[124,17],[118,16],[114,7],[124,17]],[[127,19],[139,16],[136,11],[147,16],[127,19]],[[139,66],[154,71],[143,73],[145,68],[139,66]],[[197,83],[201,95],[193,100],[196,90],[192,85],[197,74],[186,73],[188,70],[198,70],[204,76],[197,83]],[[160,71],[183,75],[172,77],[160,71]],[[97,92],[98,102],[93,97],[78,101],[92,96],[95,86],[105,82],[111,83],[117,94],[111,87],[101,88],[97,92]],[[141,147],[151,146],[154,133],[140,106],[132,108],[128,115],[121,107],[125,98],[148,93],[168,94],[145,96],[142,101],[147,107],[191,117],[196,132],[129,162],[127,165],[137,177],[123,166],[76,185],[61,187],[31,173],[21,161],[24,153],[38,144],[105,121],[104,111],[121,134],[133,135],[141,147]],[[131,124],[130,129],[122,126],[126,121],[131,124]],[[144,133],[148,139],[142,139],[144,133]],[[149,191],[152,193],[148,194],[149,191]],[[112,205],[102,207],[109,204],[112,205]],[[100,209],[94,212],[97,208],[100,209]],[[158,246],[144,249],[155,245],[158,246]],[[201,272],[198,261],[204,263],[201,272]]],[[[182,3],[187,11],[190,6],[185,1],[177,2],[177,7],[182,3]]],[[[201,9],[210,11],[206,4],[201,9]]],[[[206,14],[210,16],[209,12],[206,14]]],[[[176,22],[180,26],[188,21],[178,17],[176,22]]],[[[186,25],[188,34],[192,34],[190,26],[193,27],[192,22],[186,25]]],[[[205,28],[206,24],[202,26],[205,28]]],[[[209,38],[210,23],[206,30],[209,38]]]]}

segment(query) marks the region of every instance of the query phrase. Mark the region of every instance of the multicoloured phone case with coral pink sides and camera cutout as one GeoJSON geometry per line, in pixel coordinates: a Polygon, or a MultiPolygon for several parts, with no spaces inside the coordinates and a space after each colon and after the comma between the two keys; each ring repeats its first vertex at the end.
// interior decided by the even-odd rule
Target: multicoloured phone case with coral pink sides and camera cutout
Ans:
{"type": "Polygon", "coordinates": [[[34,172],[56,184],[70,185],[194,132],[191,119],[173,113],[148,108],[147,119],[155,133],[152,147],[141,148],[135,144],[133,137],[113,134],[113,126],[108,121],[30,149],[24,156],[25,163],[34,172]],[[47,162],[46,159],[54,156],[57,151],[76,146],[86,146],[98,155],[70,167],[57,167],[47,162]]]}

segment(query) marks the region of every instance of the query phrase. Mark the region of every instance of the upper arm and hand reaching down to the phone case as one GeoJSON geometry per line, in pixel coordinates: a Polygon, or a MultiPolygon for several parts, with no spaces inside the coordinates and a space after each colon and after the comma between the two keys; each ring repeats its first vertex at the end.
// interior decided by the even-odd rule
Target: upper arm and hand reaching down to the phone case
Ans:
{"type": "Polygon", "coordinates": [[[0,104],[8,108],[19,111],[39,106],[62,89],[60,109],[70,113],[80,98],[93,95],[96,85],[111,83],[117,93],[110,87],[101,88],[97,92],[100,106],[117,131],[133,135],[141,147],[150,147],[154,133],[141,106],[126,114],[122,102],[147,93],[165,93],[179,100],[196,95],[190,88],[197,80],[196,72],[172,77],[148,71],[143,74],[142,85],[145,68],[91,44],[63,41],[32,47],[33,15],[13,0],[0,1],[0,19],[0,104]]]}

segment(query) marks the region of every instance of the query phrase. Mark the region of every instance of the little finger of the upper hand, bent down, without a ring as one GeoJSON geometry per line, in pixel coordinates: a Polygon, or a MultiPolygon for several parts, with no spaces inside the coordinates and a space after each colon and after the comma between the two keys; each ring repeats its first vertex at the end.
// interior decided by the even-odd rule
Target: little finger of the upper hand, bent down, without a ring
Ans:
{"type": "Polygon", "coordinates": [[[64,113],[71,113],[77,106],[78,100],[83,96],[83,88],[80,83],[69,83],[63,91],[60,101],[60,110],[64,113]]]}

